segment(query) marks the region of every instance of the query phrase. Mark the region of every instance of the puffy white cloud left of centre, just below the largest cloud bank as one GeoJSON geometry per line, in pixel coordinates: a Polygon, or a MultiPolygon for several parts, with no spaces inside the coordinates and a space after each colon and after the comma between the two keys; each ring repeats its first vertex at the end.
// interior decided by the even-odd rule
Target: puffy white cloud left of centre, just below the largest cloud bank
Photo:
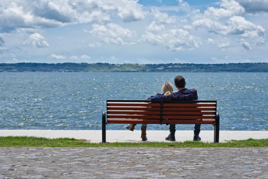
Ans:
{"type": "Polygon", "coordinates": [[[125,29],[118,24],[109,23],[106,26],[93,24],[92,30],[89,31],[93,35],[98,36],[106,43],[115,43],[119,45],[134,44],[133,37],[136,35],[135,31],[125,29]]]}

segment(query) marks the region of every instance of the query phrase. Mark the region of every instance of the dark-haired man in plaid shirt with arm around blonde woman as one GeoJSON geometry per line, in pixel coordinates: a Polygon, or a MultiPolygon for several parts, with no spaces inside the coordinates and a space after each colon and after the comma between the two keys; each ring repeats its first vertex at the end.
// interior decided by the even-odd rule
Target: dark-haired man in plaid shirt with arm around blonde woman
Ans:
{"type": "MultiPolygon", "coordinates": [[[[176,88],[179,90],[178,92],[174,92],[169,96],[151,96],[147,99],[151,99],[154,101],[171,101],[171,100],[198,100],[197,91],[195,89],[185,88],[186,82],[185,79],[178,75],[174,78],[174,83],[176,88]]],[[[201,124],[195,124],[194,126],[194,141],[200,141],[199,137],[201,124]]],[[[169,124],[169,136],[166,137],[167,141],[175,141],[175,124],[169,124]]]]}

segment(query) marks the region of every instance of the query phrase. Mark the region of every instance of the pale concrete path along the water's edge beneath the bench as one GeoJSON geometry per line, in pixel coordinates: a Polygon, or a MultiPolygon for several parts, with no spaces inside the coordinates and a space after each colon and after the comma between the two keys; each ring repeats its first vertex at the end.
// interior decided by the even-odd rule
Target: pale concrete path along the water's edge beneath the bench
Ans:
{"type": "MultiPolygon", "coordinates": [[[[147,138],[148,142],[152,141],[166,141],[166,136],[169,135],[167,130],[148,130],[147,138]]],[[[194,132],[192,130],[177,130],[176,141],[193,140],[194,132]]],[[[101,130],[0,130],[0,136],[38,136],[45,138],[77,138],[86,139],[92,143],[102,141],[101,130]]],[[[213,142],[214,131],[202,130],[199,134],[202,141],[213,142]]],[[[106,141],[107,142],[142,142],[140,130],[107,130],[106,141]]],[[[225,142],[229,140],[242,140],[247,138],[262,139],[268,138],[268,131],[233,131],[233,130],[220,130],[219,142],[225,142]]]]}

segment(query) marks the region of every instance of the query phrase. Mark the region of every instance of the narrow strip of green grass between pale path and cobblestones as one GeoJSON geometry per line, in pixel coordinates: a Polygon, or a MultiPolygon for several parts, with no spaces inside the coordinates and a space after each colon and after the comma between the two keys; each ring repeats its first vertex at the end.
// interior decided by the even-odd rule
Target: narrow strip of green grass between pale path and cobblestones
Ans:
{"type": "Polygon", "coordinates": [[[114,142],[114,143],[88,143],[84,139],[55,138],[27,136],[0,136],[0,147],[268,147],[267,139],[232,140],[227,143],[204,143],[198,141],[185,142],[114,142]]]}

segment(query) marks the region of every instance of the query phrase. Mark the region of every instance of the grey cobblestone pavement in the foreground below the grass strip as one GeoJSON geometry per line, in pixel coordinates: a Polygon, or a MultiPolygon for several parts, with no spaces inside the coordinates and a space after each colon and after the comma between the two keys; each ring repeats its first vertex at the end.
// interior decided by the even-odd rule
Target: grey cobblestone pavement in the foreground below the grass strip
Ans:
{"type": "Polygon", "coordinates": [[[0,148],[0,178],[268,178],[268,148],[0,148]]]}

